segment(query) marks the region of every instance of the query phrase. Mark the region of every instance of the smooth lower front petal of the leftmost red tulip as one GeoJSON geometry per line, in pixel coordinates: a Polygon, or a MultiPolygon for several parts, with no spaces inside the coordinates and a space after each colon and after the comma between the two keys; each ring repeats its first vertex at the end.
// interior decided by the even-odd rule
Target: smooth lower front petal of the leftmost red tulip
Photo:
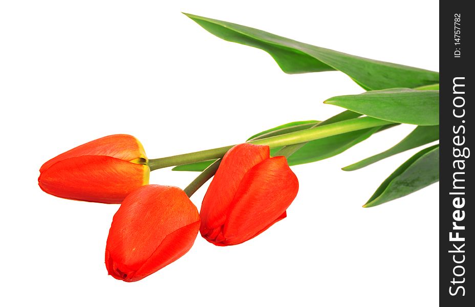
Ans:
{"type": "Polygon", "coordinates": [[[138,187],[148,184],[150,169],[104,156],[59,161],[42,172],[38,184],[45,192],[65,199],[119,204],[138,187]]]}

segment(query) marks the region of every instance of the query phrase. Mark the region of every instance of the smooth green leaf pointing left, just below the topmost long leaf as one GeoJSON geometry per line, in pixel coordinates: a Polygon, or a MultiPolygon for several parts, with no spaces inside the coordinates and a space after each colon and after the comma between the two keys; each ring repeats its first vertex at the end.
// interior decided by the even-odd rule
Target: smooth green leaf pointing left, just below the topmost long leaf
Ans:
{"type": "Polygon", "coordinates": [[[439,91],[388,89],[336,96],[325,103],[398,123],[422,126],[439,124],[439,91]]]}

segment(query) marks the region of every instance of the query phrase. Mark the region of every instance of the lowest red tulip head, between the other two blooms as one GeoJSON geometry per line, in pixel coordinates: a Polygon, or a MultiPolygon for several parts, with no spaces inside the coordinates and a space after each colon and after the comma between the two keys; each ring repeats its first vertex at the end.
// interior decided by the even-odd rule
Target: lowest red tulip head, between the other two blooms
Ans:
{"type": "Polygon", "coordinates": [[[114,215],[105,267],[114,278],[140,280],[189,251],[199,228],[198,210],[183,190],[143,186],[129,194],[114,215]]]}

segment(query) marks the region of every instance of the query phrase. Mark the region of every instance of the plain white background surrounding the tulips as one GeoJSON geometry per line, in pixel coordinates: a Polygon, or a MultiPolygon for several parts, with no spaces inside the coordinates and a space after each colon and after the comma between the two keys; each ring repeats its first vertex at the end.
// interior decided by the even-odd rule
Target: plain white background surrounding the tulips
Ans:
{"type": "MultiPolygon", "coordinates": [[[[265,52],[209,34],[180,12],[232,21],[355,55],[438,71],[439,8],[429,1],[4,1],[0,5],[2,301],[5,305],[434,306],[438,184],[361,207],[417,149],[370,167],[400,126],[332,159],[293,167],[288,217],[249,242],[199,236],[135,283],[107,276],[118,205],[68,201],[37,186],[42,163],[84,142],[136,136],[149,158],[243,142],[340,111],[361,93],[339,72],[287,75],[265,52]]],[[[152,173],[184,188],[197,173],[152,173]]],[[[191,200],[200,207],[206,186],[191,200]]]]}

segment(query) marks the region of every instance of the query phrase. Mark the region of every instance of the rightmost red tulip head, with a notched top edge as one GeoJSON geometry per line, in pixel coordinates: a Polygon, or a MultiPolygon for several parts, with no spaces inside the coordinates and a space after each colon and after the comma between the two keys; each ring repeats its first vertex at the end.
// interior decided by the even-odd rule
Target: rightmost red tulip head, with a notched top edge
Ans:
{"type": "Polygon", "coordinates": [[[269,146],[236,145],[203,199],[201,235],[219,246],[243,243],[286,217],[297,191],[285,157],[270,158],[269,146]]]}

